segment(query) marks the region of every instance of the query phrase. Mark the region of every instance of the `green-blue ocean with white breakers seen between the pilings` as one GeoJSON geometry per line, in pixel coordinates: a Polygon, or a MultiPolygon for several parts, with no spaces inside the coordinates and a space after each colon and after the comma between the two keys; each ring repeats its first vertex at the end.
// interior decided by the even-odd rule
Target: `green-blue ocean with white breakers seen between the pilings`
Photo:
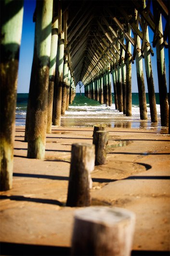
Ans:
{"type": "MultiPolygon", "coordinates": [[[[101,105],[98,101],[90,100],[84,93],[77,93],[68,111],[61,118],[63,127],[93,127],[95,124],[106,124],[108,127],[124,128],[161,128],[160,126],[160,105],[159,96],[156,93],[158,123],[151,123],[148,93],[147,100],[147,120],[140,120],[138,93],[132,93],[132,116],[126,116],[115,109],[114,94],[112,93],[112,106],[101,105]]],[[[17,94],[16,105],[16,126],[25,126],[26,107],[28,93],[17,94]]]]}

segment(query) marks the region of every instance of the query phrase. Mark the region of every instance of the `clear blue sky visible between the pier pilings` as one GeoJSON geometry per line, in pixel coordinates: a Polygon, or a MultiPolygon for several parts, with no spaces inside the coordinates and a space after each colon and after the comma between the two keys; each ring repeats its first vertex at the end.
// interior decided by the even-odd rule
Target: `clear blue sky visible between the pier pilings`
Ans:
{"type": "MultiPolygon", "coordinates": [[[[22,40],[21,40],[20,57],[19,57],[17,93],[29,92],[29,83],[30,83],[30,76],[31,76],[33,51],[34,51],[35,23],[33,23],[33,14],[35,11],[35,7],[36,7],[36,0],[24,0],[24,17],[23,17],[22,40]]],[[[164,25],[165,25],[165,22],[163,19],[163,26],[164,25]]],[[[150,28],[149,28],[149,36],[151,38],[150,42],[152,42],[153,32],[150,28]]],[[[154,57],[151,57],[152,69],[153,69],[153,75],[154,75],[154,85],[155,85],[155,92],[158,92],[156,48],[152,48],[152,49],[154,51],[154,57]]],[[[169,91],[168,49],[164,49],[164,50],[165,50],[167,88],[169,91]]],[[[144,59],[143,59],[143,63],[144,63],[144,59]]],[[[147,92],[147,83],[146,83],[144,64],[143,64],[143,69],[144,69],[145,91],[147,92]]],[[[84,92],[83,87],[84,86],[81,87],[81,92],[84,92]]],[[[113,86],[112,86],[112,91],[113,91],[113,86]]],[[[79,86],[77,86],[76,92],[79,92],[79,86]]],[[[135,61],[134,61],[134,64],[132,64],[132,92],[138,92],[135,61]]]]}

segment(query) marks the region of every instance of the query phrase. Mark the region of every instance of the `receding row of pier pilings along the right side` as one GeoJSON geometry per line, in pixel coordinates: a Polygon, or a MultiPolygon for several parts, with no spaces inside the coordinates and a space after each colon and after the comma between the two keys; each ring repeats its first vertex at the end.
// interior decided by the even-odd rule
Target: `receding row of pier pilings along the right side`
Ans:
{"type": "MultiPolygon", "coordinates": [[[[162,31],[162,20],[159,20],[159,30],[162,31]]],[[[163,31],[162,31],[163,32],[163,31]]],[[[130,32],[131,34],[131,32],[130,32]]],[[[146,39],[149,42],[148,28],[146,29],[146,39]]],[[[141,40],[139,36],[136,37],[137,49],[141,49],[141,40]]],[[[159,101],[160,101],[160,118],[161,126],[169,126],[169,102],[167,93],[167,82],[165,72],[165,57],[163,38],[157,40],[157,77],[159,88],[159,101]]],[[[114,102],[115,108],[119,112],[123,112],[126,116],[132,115],[132,85],[131,85],[131,68],[134,59],[131,55],[131,43],[128,46],[129,55],[125,58],[125,51],[122,49],[122,60],[112,66],[107,62],[105,68],[95,74],[94,77],[90,77],[88,83],[85,85],[85,96],[98,100],[101,104],[105,103],[108,106],[112,105],[112,93],[111,93],[111,76],[113,81],[114,102]]],[[[149,45],[144,48],[144,52],[136,50],[135,64],[137,85],[139,94],[139,107],[140,107],[140,119],[147,120],[147,106],[146,106],[146,94],[144,85],[144,72],[143,72],[143,58],[146,72],[146,81],[148,89],[150,117],[152,123],[157,123],[157,106],[154,88],[154,78],[151,63],[151,54],[149,45]]]]}

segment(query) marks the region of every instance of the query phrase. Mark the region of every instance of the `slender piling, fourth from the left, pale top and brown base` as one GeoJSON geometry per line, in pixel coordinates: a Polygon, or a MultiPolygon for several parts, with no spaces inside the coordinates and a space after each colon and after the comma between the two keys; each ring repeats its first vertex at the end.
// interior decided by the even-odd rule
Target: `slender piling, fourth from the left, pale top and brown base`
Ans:
{"type": "Polygon", "coordinates": [[[64,39],[58,39],[57,65],[56,65],[56,105],[54,109],[53,125],[61,124],[62,89],[64,66],[64,39]]]}

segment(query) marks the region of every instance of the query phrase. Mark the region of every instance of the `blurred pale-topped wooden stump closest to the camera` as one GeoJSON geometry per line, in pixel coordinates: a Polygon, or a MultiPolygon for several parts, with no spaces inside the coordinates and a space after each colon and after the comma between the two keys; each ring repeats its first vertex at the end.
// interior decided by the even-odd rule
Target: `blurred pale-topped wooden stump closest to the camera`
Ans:
{"type": "Polygon", "coordinates": [[[118,207],[95,206],[77,210],[72,234],[72,256],[130,256],[135,214],[118,207]]]}

